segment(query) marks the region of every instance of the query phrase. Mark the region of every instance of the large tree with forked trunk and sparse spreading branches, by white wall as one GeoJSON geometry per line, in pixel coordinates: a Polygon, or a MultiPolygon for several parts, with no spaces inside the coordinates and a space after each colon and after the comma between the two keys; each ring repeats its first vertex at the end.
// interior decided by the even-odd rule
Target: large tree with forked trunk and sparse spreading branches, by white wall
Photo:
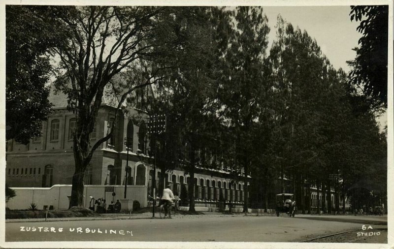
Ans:
{"type": "Polygon", "coordinates": [[[69,40],[53,48],[61,59],[63,74],[57,87],[68,94],[69,108],[75,113],[75,172],[70,206],[83,205],[84,173],[95,150],[108,140],[116,125],[120,107],[129,93],[155,83],[160,71],[157,63],[172,48],[171,31],[164,20],[171,20],[168,8],[146,6],[58,6],[53,14],[66,26],[69,40]],[[164,48],[165,47],[165,48],[164,48]],[[158,56],[160,55],[160,56],[158,56]],[[132,72],[140,67],[144,77],[132,72]],[[104,89],[114,75],[132,77],[122,84],[122,94],[114,111],[111,131],[90,145],[104,89]]]}

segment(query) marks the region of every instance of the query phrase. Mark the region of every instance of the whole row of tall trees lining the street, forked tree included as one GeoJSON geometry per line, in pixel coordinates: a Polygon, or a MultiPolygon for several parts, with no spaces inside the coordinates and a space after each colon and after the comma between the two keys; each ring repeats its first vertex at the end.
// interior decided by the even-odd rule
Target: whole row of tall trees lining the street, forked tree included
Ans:
{"type": "Polygon", "coordinates": [[[337,192],[349,194],[384,158],[385,136],[356,84],[280,16],[268,51],[262,7],[51,6],[41,13],[7,6],[7,15],[26,8],[33,23],[56,24],[55,37],[62,37],[40,53],[60,58],[56,86],[76,114],[71,206],[83,204],[86,166],[116,126],[90,145],[101,96],[117,74],[127,79],[118,86],[119,110],[130,93],[153,85],[147,111],[166,114],[168,123],[151,148],[158,148],[162,172],[182,167],[190,174],[191,212],[197,166],[229,166],[245,192],[252,176],[266,198],[286,174],[305,209],[304,187],[329,189],[329,177],[339,175],[337,192]]]}

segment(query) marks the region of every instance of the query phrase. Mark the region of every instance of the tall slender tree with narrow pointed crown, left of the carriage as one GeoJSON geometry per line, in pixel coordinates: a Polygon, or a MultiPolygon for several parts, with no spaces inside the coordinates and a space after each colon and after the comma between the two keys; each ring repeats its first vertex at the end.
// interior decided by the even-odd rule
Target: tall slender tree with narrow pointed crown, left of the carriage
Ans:
{"type": "Polygon", "coordinates": [[[262,7],[237,7],[233,16],[229,51],[225,54],[226,67],[220,88],[220,100],[225,116],[236,134],[236,165],[242,167],[245,202],[248,210],[248,175],[252,149],[250,134],[259,116],[265,86],[263,58],[267,48],[269,28],[262,7]]]}

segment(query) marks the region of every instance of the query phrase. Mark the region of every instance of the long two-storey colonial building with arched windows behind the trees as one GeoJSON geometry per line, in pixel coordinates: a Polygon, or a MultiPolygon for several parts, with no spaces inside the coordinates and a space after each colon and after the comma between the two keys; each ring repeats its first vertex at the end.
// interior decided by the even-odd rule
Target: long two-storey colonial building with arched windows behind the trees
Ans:
{"type": "MultiPolygon", "coordinates": [[[[120,80],[116,78],[116,80],[120,80]]],[[[115,82],[116,84],[116,82],[115,82]]],[[[112,91],[113,85],[105,89],[97,121],[91,134],[91,145],[110,131],[120,96],[112,91]]],[[[148,93],[152,89],[147,89],[148,93]]],[[[95,151],[85,172],[85,185],[139,185],[146,186],[151,193],[153,165],[149,151],[147,121],[143,111],[149,105],[143,94],[133,96],[134,106],[122,105],[113,136],[95,151]],[[124,141],[132,137],[127,148],[124,141]],[[127,158],[129,160],[127,161],[127,158]]],[[[73,132],[75,115],[67,110],[67,96],[51,87],[50,102],[54,112],[42,123],[42,135],[31,139],[28,145],[8,141],[6,153],[6,183],[10,187],[51,187],[56,184],[70,185],[74,173],[73,132]]],[[[161,176],[157,170],[156,179],[161,176]]],[[[175,193],[187,191],[190,177],[181,169],[168,170],[164,184],[170,184],[175,193]]],[[[157,187],[159,181],[156,182],[157,187]]],[[[195,199],[206,202],[219,199],[239,204],[244,200],[243,183],[230,178],[230,169],[199,169],[195,174],[195,199]]],[[[131,197],[132,198],[132,197],[131,197]]],[[[143,205],[143,204],[142,204],[143,205]]],[[[202,205],[202,204],[201,204],[202,205]]],[[[143,205],[144,206],[144,205],[143,205]]]]}

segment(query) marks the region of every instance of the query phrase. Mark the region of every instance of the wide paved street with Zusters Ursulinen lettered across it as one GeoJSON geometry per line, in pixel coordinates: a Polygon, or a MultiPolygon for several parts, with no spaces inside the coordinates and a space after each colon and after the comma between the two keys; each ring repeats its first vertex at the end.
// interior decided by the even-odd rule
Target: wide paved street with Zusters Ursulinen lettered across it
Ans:
{"type": "MultiPolygon", "coordinates": [[[[387,217],[148,217],[149,213],[140,219],[7,222],[5,241],[299,242],[322,235],[361,229],[362,225],[371,225],[375,231],[379,228],[387,229],[387,217]]],[[[351,232],[350,236],[354,233],[357,238],[357,232],[361,231],[351,232]]],[[[387,232],[374,236],[374,243],[387,243],[387,232]]]]}

